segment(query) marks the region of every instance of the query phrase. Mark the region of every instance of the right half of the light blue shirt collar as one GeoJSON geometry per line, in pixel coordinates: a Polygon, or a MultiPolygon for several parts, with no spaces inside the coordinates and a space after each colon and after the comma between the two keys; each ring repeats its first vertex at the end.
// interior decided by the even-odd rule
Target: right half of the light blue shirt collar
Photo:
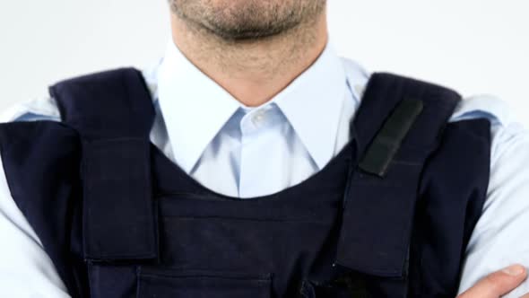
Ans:
{"type": "Polygon", "coordinates": [[[342,61],[328,43],[312,66],[273,99],[319,169],[334,156],[346,83],[342,61]]]}

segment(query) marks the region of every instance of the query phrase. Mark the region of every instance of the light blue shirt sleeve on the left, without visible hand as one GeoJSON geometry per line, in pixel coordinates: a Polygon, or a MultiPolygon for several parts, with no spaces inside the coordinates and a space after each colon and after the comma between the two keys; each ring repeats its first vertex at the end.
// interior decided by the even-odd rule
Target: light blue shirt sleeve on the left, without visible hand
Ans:
{"type": "MultiPolygon", "coordinates": [[[[4,111],[2,122],[60,120],[52,98],[27,101],[4,111]]],[[[39,237],[14,203],[0,158],[0,294],[2,297],[69,297],[39,237]]]]}

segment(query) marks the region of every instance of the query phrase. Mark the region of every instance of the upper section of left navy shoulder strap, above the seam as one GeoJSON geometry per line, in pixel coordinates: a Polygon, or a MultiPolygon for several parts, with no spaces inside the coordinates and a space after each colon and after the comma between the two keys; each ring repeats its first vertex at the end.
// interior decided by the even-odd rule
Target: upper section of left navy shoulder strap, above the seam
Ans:
{"type": "Polygon", "coordinates": [[[49,87],[63,122],[91,140],[149,136],[152,97],[143,74],[119,68],[74,77],[49,87]]]}

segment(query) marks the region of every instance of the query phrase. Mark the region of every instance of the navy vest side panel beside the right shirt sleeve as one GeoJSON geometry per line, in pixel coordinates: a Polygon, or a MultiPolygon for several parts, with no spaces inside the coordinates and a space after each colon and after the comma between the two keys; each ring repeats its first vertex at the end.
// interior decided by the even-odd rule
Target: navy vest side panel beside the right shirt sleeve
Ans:
{"type": "Polygon", "coordinates": [[[411,247],[412,296],[455,296],[490,176],[490,122],[450,123],[422,173],[411,247]]]}

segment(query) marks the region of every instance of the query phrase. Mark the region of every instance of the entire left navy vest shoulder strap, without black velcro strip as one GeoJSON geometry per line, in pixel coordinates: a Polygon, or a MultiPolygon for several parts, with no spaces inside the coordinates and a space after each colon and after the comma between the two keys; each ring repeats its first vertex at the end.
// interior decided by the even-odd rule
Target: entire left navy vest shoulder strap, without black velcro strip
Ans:
{"type": "Polygon", "coordinates": [[[82,139],[85,259],[155,259],[149,140],[154,109],[143,75],[121,68],[65,80],[49,92],[63,122],[82,139]]]}

